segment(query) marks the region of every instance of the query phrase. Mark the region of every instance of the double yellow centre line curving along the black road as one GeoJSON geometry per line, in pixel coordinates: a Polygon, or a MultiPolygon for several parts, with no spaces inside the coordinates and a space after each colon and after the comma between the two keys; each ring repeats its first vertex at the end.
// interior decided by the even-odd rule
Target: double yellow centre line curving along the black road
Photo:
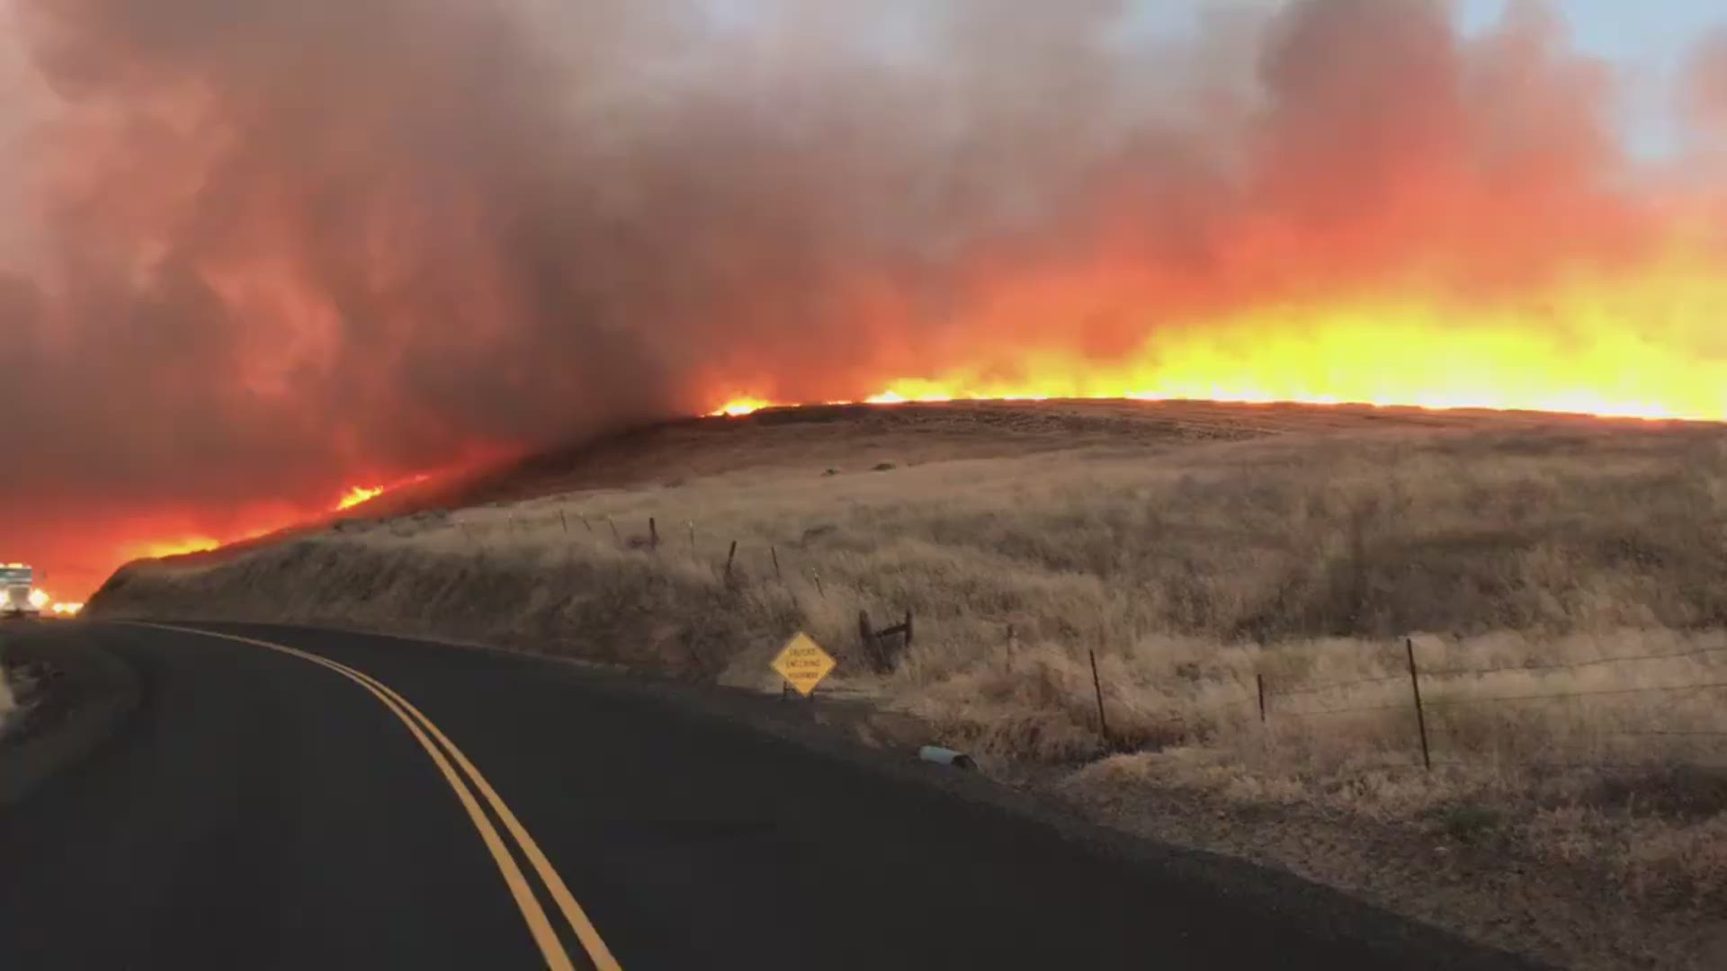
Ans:
{"type": "Polygon", "coordinates": [[[406,698],[397,695],[387,684],[383,684],[376,677],[371,677],[370,674],[354,670],[345,663],[337,663],[330,658],[323,658],[297,648],[290,648],[287,644],[275,644],[269,641],[257,641],[252,638],[238,638],[233,634],[218,634],[214,631],[199,631],[195,627],[173,627],[168,624],[138,624],[138,625],[155,627],[159,631],[174,631],[180,634],[199,634],[202,638],[216,638],[223,641],[237,641],[242,644],[252,644],[259,648],[269,648],[273,651],[292,655],[300,660],[309,660],[316,665],[326,667],[340,674],[342,677],[347,677],[349,681],[359,684],[366,691],[370,691],[375,698],[378,698],[378,701],[383,703],[385,708],[389,708],[397,719],[402,720],[404,726],[408,726],[408,731],[413,733],[414,741],[418,741],[420,746],[427,750],[427,755],[432,757],[432,762],[437,765],[439,772],[444,774],[444,781],[449,783],[449,788],[456,791],[456,798],[461,800],[461,807],[468,810],[468,819],[473,821],[473,828],[478,829],[480,840],[485,843],[485,848],[492,854],[492,860],[497,864],[497,871],[503,874],[504,883],[509,886],[509,895],[515,897],[516,907],[522,911],[522,919],[527,921],[528,933],[534,935],[534,943],[539,945],[541,954],[546,957],[546,966],[551,968],[553,971],[575,969],[575,966],[570,962],[568,950],[565,950],[563,942],[558,940],[558,931],[553,928],[551,919],[546,916],[546,909],[541,907],[539,898],[534,895],[534,886],[528,885],[527,874],[523,874],[522,867],[516,866],[516,859],[509,854],[509,847],[504,843],[504,838],[497,833],[497,828],[492,826],[492,821],[487,819],[485,810],[480,809],[480,802],[475,798],[473,790],[478,790],[480,798],[484,798],[485,803],[492,807],[492,812],[497,816],[499,821],[503,821],[504,829],[509,831],[509,838],[515,840],[516,847],[522,848],[522,855],[527,857],[528,864],[534,867],[534,873],[539,874],[541,883],[546,885],[546,890],[551,893],[553,902],[558,904],[558,911],[563,912],[563,919],[575,933],[575,938],[582,943],[582,949],[587,952],[587,957],[592,962],[592,966],[598,971],[620,971],[617,959],[611,957],[611,950],[606,947],[606,942],[599,940],[599,931],[594,930],[592,921],[589,921],[587,914],[582,912],[582,905],[575,902],[575,897],[570,893],[570,888],[565,886],[563,878],[558,876],[558,871],[551,866],[551,860],[546,859],[546,854],[541,852],[539,843],[534,841],[534,836],[530,836],[527,828],[523,828],[522,822],[516,819],[516,814],[509,812],[509,807],[504,805],[504,800],[497,796],[497,791],[492,790],[492,784],[485,781],[485,776],[482,776],[480,771],[475,769],[473,762],[470,762],[468,757],[463,755],[459,748],[456,748],[456,743],[452,743],[449,736],[439,731],[439,727],[432,724],[432,719],[425,717],[425,714],[420,708],[413,707],[406,698]],[[454,760],[454,765],[451,764],[451,760],[454,760]],[[458,765],[461,767],[459,774],[456,771],[458,765]],[[466,776],[466,781],[463,779],[463,776],[466,776]],[[471,790],[468,783],[473,784],[471,790]]]}

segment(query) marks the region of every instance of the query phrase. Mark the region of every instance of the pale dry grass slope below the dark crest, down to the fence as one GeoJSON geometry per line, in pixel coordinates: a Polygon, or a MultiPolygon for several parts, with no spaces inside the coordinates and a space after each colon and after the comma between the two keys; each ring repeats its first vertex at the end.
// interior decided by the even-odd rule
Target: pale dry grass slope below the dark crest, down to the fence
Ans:
{"type": "MultiPolygon", "coordinates": [[[[1428,670],[1724,648],[1430,676],[1440,705],[1727,681],[1711,632],[1727,627],[1727,437],[1713,428],[1302,432],[869,472],[876,458],[347,524],[237,560],[138,567],[98,612],[454,625],[720,677],[794,627],[853,653],[860,608],[912,608],[917,650],[884,688],[969,726],[986,753],[1043,760],[1095,753],[1086,650],[1129,739],[1211,743],[1257,724],[1261,674],[1276,734],[1311,739],[1299,748],[1321,762],[1337,755],[1323,739],[1408,748],[1402,710],[1295,715],[1408,700],[1395,676],[1411,632],[1428,670]],[[256,582],[278,574],[295,582],[256,582]],[[1363,677],[1389,681],[1288,695],[1363,677]]],[[[1608,731],[1727,731],[1720,700],[1456,707],[1433,727],[1456,752],[1616,755],[1608,731]]],[[[1634,748],[1677,757],[1687,738],[1634,748]]]]}

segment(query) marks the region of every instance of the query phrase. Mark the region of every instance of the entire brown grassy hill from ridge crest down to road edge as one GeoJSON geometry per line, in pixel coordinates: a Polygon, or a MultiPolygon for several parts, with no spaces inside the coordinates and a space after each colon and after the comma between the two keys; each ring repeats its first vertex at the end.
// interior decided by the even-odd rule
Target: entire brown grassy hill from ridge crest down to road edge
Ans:
{"type": "Polygon", "coordinates": [[[1568,966],[1727,954],[1727,428],[810,408],[466,489],[449,511],[131,565],[92,613],[435,632],[763,689],[805,629],[841,689],[1110,822],[1568,966]],[[860,610],[915,613],[895,674],[862,663],[860,610]],[[1433,847],[1451,890],[1408,862],[1433,847]],[[1540,890],[1506,885],[1508,860],[1540,890]]]}

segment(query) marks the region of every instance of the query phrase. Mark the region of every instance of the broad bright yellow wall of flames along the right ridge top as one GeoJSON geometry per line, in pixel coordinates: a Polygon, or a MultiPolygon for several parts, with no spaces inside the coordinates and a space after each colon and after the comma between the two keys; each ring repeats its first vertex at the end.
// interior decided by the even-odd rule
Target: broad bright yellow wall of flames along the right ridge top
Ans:
{"type": "MultiPolygon", "coordinates": [[[[1098,299],[1078,283],[1031,290],[1014,299],[1009,287],[1007,309],[986,311],[977,330],[1026,333],[1024,316],[1085,320],[1098,299]]],[[[1143,316],[1142,337],[1112,358],[1071,339],[995,346],[976,363],[889,377],[862,401],[1199,399],[1727,420],[1727,276],[1701,257],[1499,302],[1387,292],[1204,320],[1161,320],[1155,308],[1143,316]]]]}

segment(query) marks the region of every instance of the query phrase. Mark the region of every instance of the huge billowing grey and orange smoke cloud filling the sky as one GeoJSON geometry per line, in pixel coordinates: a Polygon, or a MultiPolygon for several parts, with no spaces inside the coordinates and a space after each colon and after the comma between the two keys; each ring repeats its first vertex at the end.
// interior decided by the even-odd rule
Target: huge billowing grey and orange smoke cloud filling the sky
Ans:
{"type": "Polygon", "coordinates": [[[1155,5],[1180,40],[1126,0],[3,3],[0,503],[40,548],[734,389],[1490,299],[1658,219],[1532,3],[1155,5]]]}

